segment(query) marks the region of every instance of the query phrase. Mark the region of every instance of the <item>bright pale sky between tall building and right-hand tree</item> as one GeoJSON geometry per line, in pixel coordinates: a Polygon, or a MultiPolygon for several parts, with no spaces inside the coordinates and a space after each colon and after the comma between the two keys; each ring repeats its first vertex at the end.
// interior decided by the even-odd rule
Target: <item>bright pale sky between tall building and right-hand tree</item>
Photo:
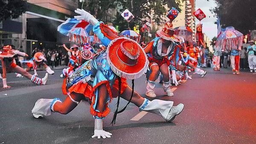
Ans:
{"type": "MultiPolygon", "coordinates": [[[[206,18],[201,20],[203,24],[203,32],[210,38],[210,40],[217,36],[217,25],[214,24],[217,20],[216,17],[213,17],[214,14],[210,12],[210,9],[214,8],[216,3],[214,0],[195,0],[195,10],[200,8],[204,14],[206,14],[206,18]]],[[[197,25],[199,20],[196,19],[195,24],[197,25]]]]}

